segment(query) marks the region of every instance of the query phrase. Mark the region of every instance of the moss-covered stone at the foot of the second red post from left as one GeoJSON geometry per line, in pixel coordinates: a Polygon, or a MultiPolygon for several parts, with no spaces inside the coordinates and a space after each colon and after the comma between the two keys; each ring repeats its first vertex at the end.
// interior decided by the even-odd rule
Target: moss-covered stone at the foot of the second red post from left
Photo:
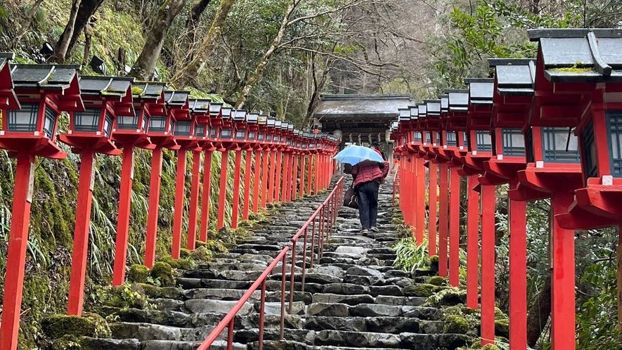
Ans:
{"type": "Polygon", "coordinates": [[[41,330],[51,339],[60,339],[64,335],[72,337],[101,337],[110,335],[106,320],[95,314],[83,316],[50,315],[41,320],[41,330]]]}

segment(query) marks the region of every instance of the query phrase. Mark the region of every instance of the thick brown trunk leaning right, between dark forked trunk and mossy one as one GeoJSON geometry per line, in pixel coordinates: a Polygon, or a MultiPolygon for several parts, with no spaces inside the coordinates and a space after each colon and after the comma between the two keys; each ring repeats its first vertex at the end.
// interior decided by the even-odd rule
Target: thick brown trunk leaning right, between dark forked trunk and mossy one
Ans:
{"type": "Polygon", "coordinates": [[[157,18],[151,26],[150,32],[147,34],[147,41],[143,46],[141,56],[131,68],[129,76],[136,77],[140,80],[150,80],[153,77],[155,63],[160,57],[164,39],[167,38],[167,32],[173,23],[173,20],[183,9],[187,0],[167,0],[157,11],[157,18]]]}

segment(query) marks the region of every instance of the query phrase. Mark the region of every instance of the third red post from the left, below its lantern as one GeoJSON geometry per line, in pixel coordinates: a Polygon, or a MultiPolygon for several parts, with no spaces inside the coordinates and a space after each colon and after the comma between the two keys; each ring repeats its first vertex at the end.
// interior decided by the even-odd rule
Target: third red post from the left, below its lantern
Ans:
{"type": "Polygon", "coordinates": [[[119,195],[119,216],[117,219],[117,239],[115,242],[115,266],[112,273],[112,285],[114,286],[122,285],[125,282],[132,179],[134,179],[134,145],[128,144],[123,148],[121,164],[121,193],[119,195]]]}

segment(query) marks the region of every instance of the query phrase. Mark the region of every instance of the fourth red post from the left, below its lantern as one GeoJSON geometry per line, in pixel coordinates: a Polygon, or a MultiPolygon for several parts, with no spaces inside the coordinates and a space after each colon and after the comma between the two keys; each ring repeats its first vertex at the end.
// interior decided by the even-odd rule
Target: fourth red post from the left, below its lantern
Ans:
{"type": "Polygon", "coordinates": [[[155,243],[157,242],[157,213],[160,209],[160,183],[162,182],[162,146],[156,145],[151,156],[151,177],[149,179],[149,214],[147,219],[147,239],[145,241],[145,266],[152,268],[155,263],[155,243]]]}

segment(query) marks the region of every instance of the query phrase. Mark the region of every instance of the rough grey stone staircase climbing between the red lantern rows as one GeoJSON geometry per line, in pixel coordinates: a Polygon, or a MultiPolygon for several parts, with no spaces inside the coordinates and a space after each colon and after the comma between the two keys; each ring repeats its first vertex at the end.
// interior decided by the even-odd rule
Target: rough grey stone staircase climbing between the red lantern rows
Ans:
{"type": "MultiPolygon", "coordinates": [[[[89,339],[90,349],[197,349],[324,198],[285,203],[271,225],[244,244],[209,264],[183,271],[177,280],[181,288],[161,288],[158,294],[150,294],[150,303],[157,309],[103,308],[104,315],[117,315],[110,324],[114,339],[89,339]]],[[[422,306],[426,298],[417,296],[417,283],[425,282],[429,273],[411,276],[392,267],[395,255],[389,246],[397,233],[390,222],[391,210],[391,183],[381,187],[380,232],[361,235],[358,211],[341,209],[320,264],[309,268],[306,259],[304,292],[300,276],[294,276],[297,292],[292,312],[285,317],[284,341],[278,340],[282,266],[274,268],[266,283],[264,349],[453,350],[465,346],[464,335],[441,334],[442,310],[422,306]]],[[[301,252],[302,238],[297,271],[302,270],[301,252]]],[[[289,273],[287,266],[287,290],[289,273]]],[[[257,290],[235,317],[233,349],[258,348],[259,300],[257,290]]],[[[226,333],[211,349],[226,349],[226,333]]]]}

